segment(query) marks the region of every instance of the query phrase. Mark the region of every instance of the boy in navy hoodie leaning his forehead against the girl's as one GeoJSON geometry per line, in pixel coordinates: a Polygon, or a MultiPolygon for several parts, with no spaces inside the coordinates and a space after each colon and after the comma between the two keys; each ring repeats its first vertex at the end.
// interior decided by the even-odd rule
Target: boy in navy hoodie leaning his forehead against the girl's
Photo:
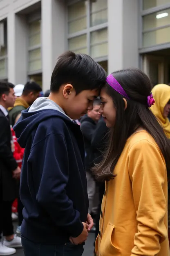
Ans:
{"type": "Polygon", "coordinates": [[[73,120],[93,109],[105,79],[88,55],[64,53],[52,73],[49,98],[38,98],[14,127],[25,147],[20,185],[25,256],[83,254],[93,220],[87,215],[83,135],[73,120]]]}

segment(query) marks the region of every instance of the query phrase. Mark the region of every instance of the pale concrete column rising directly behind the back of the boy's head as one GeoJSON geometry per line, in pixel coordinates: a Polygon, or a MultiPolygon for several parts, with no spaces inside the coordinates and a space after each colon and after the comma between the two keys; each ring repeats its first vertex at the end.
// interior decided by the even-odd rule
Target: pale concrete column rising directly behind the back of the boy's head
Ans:
{"type": "Polygon", "coordinates": [[[63,0],[41,0],[43,91],[50,88],[56,60],[66,50],[65,8],[63,0]]]}

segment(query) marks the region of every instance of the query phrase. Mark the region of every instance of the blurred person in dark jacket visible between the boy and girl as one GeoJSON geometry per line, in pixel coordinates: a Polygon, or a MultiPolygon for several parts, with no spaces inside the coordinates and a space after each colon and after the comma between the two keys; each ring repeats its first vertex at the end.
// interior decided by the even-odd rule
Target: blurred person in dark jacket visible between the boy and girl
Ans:
{"type": "MultiPolygon", "coordinates": [[[[94,181],[94,176],[92,175],[91,168],[94,163],[94,152],[92,149],[91,141],[93,133],[96,129],[96,124],[98,120],[101,118],[101,114],[98,112],[101,106],[101,101],[97,98],[94,101],[93,110],[89,110],[87,114],[81,118],[81,131],[83,133],[84,142],[85,142],[85,170],[87,177],[87,193],[89,197],[89,214],[92,213],[93,206],[97,203],[94,202],[94,195],[96,192],[96,183],[94,181]]],[[[97,210],[97,208],[96,208],[97,210]]],[[[93,213],[96,214],[95,212],[93,213]]]]}

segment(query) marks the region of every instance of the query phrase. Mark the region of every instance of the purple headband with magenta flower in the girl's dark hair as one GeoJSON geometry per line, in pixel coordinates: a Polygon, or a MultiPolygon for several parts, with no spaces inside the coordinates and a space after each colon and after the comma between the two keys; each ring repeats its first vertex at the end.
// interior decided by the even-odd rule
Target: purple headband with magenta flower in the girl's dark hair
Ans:
{"type": "MultiPolygon", "coordinates": [[[[129,96],[126,94],[126,92],[124,91],[124,89],[121,87],[121,85],[119,84],[119,82],[113,77],[112,74],[108,75],[106,78],[106,82],[107,84],[109,84],[115,91],[117,91],[119,94],[123,95],[125,98],[129,98],[129,96]]],[[[154,105],[155,101],[152,95],[152,92],[150,93],[150,95],[147,98],[147,104],[148,107],[151,107],[152,105],[154,105]]]]}

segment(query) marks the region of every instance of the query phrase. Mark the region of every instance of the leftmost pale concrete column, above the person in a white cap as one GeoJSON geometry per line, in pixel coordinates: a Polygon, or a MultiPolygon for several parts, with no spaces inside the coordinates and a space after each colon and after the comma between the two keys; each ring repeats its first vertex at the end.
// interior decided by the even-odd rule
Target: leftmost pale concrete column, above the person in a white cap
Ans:
{"type": "Polygon", "coordinates": [[[25,16],[9,11],[7,18],[8,80],[16,84],[27,82],[27,22],[25,16]]]}

